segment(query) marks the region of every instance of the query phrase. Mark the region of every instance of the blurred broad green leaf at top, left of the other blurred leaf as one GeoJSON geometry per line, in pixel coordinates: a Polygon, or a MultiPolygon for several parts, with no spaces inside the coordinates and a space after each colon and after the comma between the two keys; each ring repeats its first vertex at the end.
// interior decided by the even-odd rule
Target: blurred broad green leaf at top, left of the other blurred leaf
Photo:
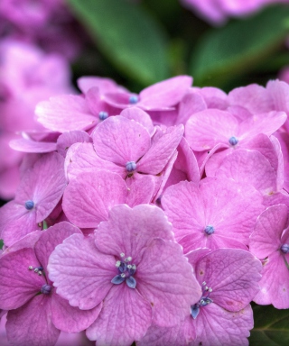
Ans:
{"type": "Polygon", "coordinates": [[[127,0],[69,0],[72,11],[123,74],[147,86],[168,77],[161,26],[127,0]]]}

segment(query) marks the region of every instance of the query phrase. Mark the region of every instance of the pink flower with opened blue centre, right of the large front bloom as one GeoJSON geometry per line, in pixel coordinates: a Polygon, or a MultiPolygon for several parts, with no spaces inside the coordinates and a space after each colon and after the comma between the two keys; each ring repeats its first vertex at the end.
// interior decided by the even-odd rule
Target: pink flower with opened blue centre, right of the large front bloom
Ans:
{"type": "MultiPolygon", "coordinates": [[[[202,250],[200,250],[202,251],[202,250]]],[[[202,286],[200,301],[185,321],[196,330],[192,345],[247,345],[253,328],[250,301],[256,296],[261,262],[246,250],[219,249],[188,255],[202,286]]]]}

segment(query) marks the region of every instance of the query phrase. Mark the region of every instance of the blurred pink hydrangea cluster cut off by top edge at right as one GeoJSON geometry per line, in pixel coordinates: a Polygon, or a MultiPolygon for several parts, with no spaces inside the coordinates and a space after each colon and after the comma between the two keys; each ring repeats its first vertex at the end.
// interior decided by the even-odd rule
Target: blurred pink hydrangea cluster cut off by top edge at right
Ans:
{"type": "Polygon", "coordinates": [[[214,25],[220,25],[228,17],[241,17],[256,13],[261,8],[272,4],[288,4],[288,0],[181,0],[182,4],[200,14],[214,25]]]}

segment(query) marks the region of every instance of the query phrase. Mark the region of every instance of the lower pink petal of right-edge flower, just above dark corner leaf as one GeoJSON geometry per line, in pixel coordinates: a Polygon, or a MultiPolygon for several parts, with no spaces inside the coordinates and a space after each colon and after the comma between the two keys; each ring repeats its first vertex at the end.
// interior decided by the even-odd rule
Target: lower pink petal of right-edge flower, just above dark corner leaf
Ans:
{"type": "Polygon", "coordinates": [[[289,278],[288,268],[284,262],[289,256],[283,256],[280,251],[272,253],[264,263],[260,290],[254,301],[259,305],[274,305],[277,309],[289,308],[289,278]]]}

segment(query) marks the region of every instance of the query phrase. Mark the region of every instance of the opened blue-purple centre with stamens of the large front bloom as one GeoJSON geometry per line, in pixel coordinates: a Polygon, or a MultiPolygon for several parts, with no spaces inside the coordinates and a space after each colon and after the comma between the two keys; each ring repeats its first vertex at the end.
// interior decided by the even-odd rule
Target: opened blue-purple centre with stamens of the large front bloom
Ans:
{"type": "Polygon", "coordinates": [[[130,288],[136,287],[136,281],[133,275],[136,271],[135,264],[132,264],[132,258],[126,257],[126,259],[123,260],[125,257],[124,253],[120,254],[121,260],[117,260],[116,267],[118,269],[118,274],[115,278],[111,280],[112,284],[119,285],[122,284],[124,281],[126,281],[126,285],[130,288]]]}

